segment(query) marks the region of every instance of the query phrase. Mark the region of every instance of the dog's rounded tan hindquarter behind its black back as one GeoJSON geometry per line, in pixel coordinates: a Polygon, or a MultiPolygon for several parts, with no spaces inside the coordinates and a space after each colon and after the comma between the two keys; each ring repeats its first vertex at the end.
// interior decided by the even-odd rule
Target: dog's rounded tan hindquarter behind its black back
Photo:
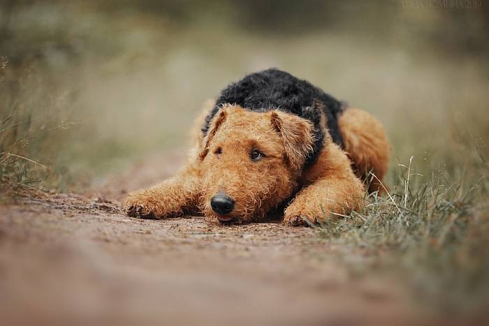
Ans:
{"type": "Polygon", "coordinates": [[[372,114],[354,108],[342,112],[338,125],[356,175],[370,183],[369,193],[383,192],[381,182],[384,183],[391,152],[384,126],[372,114]]]}

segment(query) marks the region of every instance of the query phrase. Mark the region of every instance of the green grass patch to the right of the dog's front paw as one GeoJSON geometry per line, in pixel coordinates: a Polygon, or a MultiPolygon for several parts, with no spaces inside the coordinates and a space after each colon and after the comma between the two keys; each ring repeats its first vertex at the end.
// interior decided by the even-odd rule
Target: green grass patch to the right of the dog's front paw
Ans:
{"type": "Polygon", "coordinates": [[[400,182],[388,195],[374,193],[362,212],[328,218],[319,235],[353,276],[394,279],[412,290],[416,304],[446,316],[483,316],[489,304],[489,166],[482,157],[474,165],[480,177],[458,181],[401,165],[400,182]]]}

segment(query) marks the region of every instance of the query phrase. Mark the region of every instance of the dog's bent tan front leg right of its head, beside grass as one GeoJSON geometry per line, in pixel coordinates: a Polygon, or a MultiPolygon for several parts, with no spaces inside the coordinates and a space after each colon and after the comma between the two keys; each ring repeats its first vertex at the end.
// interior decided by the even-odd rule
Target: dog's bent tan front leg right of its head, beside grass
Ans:
{"type": "Polygon", "coordinates": [[[304,188],[286,208],[284,223],[292,225],[324,221],[332,214],[350,214],[359,209],[365,195],[362,181],[350,161],[333,142],[325,146],[318,161],[302,176],[304,188]]]}

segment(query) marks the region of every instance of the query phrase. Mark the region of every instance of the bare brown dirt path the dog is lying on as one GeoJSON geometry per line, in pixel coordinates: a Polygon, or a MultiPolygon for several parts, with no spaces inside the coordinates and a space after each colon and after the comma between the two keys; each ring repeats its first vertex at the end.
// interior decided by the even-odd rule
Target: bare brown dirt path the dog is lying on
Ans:
{"type": "Polygon", "coordinates": [[[117,208],[174,172],[158,157],[85,195],[0,207],[2,325],[398,325],[407,296],[354,279],[311,228],[150,221],[117,208]],[[97,197],[98,196],[98,197],[97,197]]]}

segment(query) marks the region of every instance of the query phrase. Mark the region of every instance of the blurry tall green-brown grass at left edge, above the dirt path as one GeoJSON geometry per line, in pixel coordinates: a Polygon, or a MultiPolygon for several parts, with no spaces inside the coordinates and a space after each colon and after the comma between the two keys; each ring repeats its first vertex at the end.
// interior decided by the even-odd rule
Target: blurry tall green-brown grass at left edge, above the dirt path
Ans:
{"type": "MultiPolygon", "coordinates": [[[[7,57],[0,60],[2,75],[9,63],[7,57]]],[[[63,146],[66,131],[76,125],[66,119],[69,96],[48,86],[48,77],[34,65],[20,68],[14,81],[11,73],[8,71],[0,83],[2,184],[50,184],[59,179],[55,168],[57,149],[63,146]]]]}

